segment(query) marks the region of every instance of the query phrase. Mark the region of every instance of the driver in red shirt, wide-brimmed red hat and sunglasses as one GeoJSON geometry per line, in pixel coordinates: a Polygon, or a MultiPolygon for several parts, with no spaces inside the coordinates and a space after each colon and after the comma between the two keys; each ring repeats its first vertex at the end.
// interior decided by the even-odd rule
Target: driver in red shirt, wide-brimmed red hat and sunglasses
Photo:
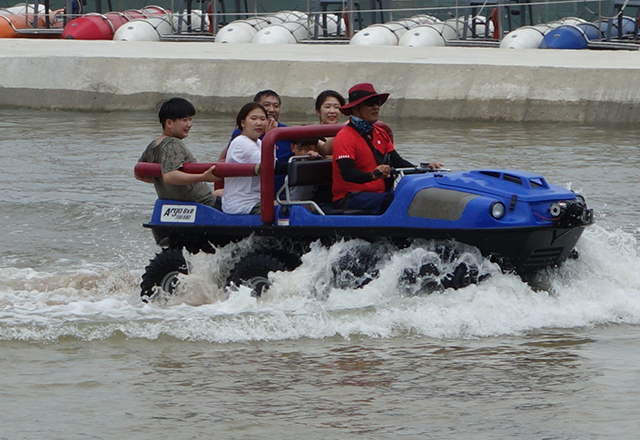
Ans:
{"type": "MultiPolygon", "coordinates": [[[[388,93],[377,93],[372,84],[356,84],[349,103],[340,111],[351,116],[333,142],[333,204],[337,209],[384,213],[393,201],[391,167],[414,165],[403,159],[385,130],[374,125],[388,93]]],[[[442,165],[433,162],[431,168],[442,165]]]]}

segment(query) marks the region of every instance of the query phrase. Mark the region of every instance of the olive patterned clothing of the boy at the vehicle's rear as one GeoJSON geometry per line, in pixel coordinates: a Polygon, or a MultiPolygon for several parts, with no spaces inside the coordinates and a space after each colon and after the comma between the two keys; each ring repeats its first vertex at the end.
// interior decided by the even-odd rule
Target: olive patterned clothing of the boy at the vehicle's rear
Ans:
{"type": "MultiPolygon", "coordinates": [[[[159,162],[162,165],[162,174],[165,174],[169,171],[179,170],[185,163],[196,162],[196,158],[180,139],[166,137],[157,145],[155,140],[152,141],[138,162],[159,162]]],[[[153,185],[160,199],[197,202],[209,206],[214,206],[215,203],[211,187],[205,182],[171,185],[165,183],[160,177],[154,177],[153,185]]]]}

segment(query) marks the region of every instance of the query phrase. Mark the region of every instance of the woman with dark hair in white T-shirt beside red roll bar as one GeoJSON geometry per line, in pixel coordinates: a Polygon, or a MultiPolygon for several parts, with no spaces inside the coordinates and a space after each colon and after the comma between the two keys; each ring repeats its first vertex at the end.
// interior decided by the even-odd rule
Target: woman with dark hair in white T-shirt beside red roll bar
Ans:
{"type": "MultiPolygon", "coordinates": [[[[257,102],[245,104],[236,124],[240,134],[227,147],[227,163],[260,163],[262,140],[269,120],[257,102]]],[[[260,177],[226,177],[222,210],[227,214],[260,214],[260,177]]]]}

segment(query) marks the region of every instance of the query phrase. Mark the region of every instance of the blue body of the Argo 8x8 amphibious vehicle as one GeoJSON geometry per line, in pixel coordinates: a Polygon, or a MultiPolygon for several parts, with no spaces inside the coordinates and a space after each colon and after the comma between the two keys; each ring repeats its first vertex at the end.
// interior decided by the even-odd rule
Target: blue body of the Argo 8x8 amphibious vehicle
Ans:
{"type": "MultiPolygon", "coordinates": [[[[280,138],[295,139],[308,136],[312,128],[278,130],[289,131],[281,133],[280,138]],[[303,133],[298,132],[300,129],[303,133]]],[[[277,140],[277,136],[268,135],[263,141],[263,164],[273,163],[273,148],[268,142],[273,145],[277,140]],[[271,149],[271,157],[264,144],[271,149]]],[[[270,168],[262,167],[262,206],[268,209],[263,208],[260,216],[230,215],[197,203],[159,199],[145,227],[152,230],[158,245],[190,252],[209,252],[249,236],[274,243],[286,241],[292,255],[283,255],[282,249],[262,249],[269,262],[254,262],[253,269],[243,269],[235,276],[235,281],[254,278],[254,270],[264,283],[267,269],[294,268],[311,243],[320,240],[331,245],[348,239],[385,241],[398,247],[418,239],[456,241],[478,248],[503,269],[526,276],[569,258],[584,228],[593,222],[593,212],[582,196],[551,185],[540,175],[516,170],[400,170],[393,202],[382,215],[335,210],[318,200],[291,200],[289,190],[296,186],[330,184],[330,160],[291,162],[285,187],[279,193],[280,204],[272,208],[270,168]]],[[[175,268],[178,263],[168,266],[175,268]]],[[[174,272],[186,270],[182,267],[174,272]]],[[[149,295],[154,285],[171,288],[171,283],[160,283],[158,275],[152,278],[154,281],[147,280],[146,285],[143,278],[143,295],[149,295]]],[[[234,280],[233,274],[230,278],[234,280]]]]}

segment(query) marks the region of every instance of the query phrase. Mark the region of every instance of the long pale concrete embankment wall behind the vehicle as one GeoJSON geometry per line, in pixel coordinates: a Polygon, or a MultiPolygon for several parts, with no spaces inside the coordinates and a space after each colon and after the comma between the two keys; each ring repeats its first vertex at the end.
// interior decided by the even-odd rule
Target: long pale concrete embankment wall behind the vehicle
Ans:
{"type": "Polygon", "coordinates": [[[325,89],[372,82],[385,116],[640,122],[640,52],[204,42],[0,40],[0,105],[152,109],[183,96],[235,113],[278,91],[313,112],[325,89]]]}

